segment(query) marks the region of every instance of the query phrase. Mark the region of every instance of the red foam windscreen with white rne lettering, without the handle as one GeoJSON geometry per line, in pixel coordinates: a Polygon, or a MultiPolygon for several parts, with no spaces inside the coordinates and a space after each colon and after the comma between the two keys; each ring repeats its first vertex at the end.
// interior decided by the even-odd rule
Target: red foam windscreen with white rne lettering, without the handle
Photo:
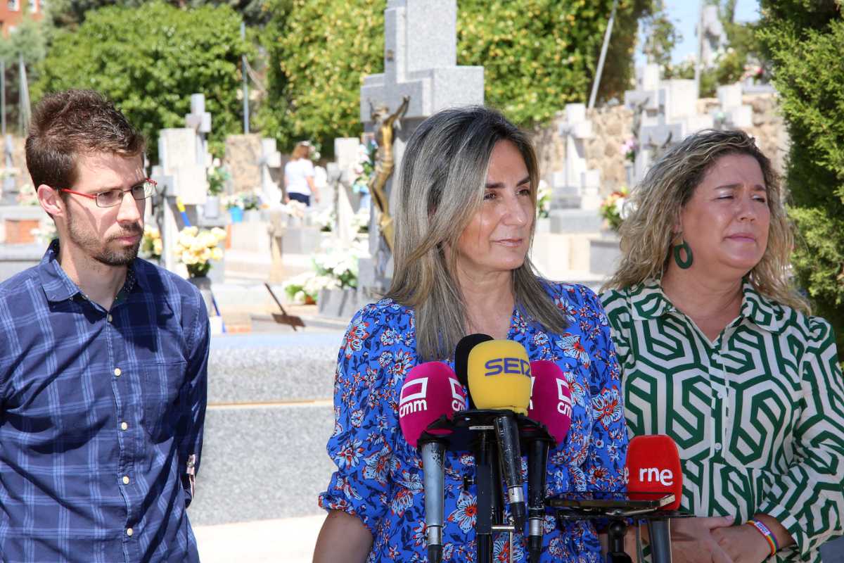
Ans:
{"type": "Polygon", "coordinates": [[[627,492],[674,493],[674,502],[662,510],[677,510],[683,493],[683,470],[677,444],[670,436],[635,436],[627,447],[627,492]]]}

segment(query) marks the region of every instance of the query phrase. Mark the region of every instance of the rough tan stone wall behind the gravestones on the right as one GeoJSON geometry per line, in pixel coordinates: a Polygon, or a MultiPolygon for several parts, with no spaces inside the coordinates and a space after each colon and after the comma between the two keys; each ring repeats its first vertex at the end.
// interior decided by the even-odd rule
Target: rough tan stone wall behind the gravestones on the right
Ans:
{"type": "MultiPolygon", "coordinates": [[[[743,96],[744,104],[753,107],[753,126],[747,133],[756,139],[760,149],[774,165],[777,172],[785,171],[789,138],[785,123],[777,107],[776,94],[751,94],[743,96]]],[[[697,100],[701,114],[717,110],[716,98],[697,100]]],[[[626,184],[625,155],[621,145],[633,136],[633,112],[624,106],[600,107],[587,111],[592,122],[594,137],[586,143],[587,168],[601,171],[602,196],[626,184]]],[[[539,176],[553,186],[555,171],[565,168],[565,139],[560,137],[560,123],[565,114],[560,112],[545,127],[531,133],[537,150],[539,176]]]]}

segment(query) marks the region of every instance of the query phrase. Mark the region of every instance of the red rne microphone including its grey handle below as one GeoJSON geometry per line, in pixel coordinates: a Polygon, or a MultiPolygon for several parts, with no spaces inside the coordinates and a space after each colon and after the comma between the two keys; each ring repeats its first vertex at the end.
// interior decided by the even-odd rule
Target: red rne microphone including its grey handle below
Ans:
{"type": "MultiPolygon", "coordinates": [[[[660,510],[675,511],[683,494],[683,470],[677,444],[670,436],[636,436],[627,447],[627,494],[671,493],[674,501],[660,510]]],[[[644,495],[640,495],[641,496],[644,495]]],[[[671,522],[668,518],[647,521],[653,563],[671,563],[671,522]]]]}

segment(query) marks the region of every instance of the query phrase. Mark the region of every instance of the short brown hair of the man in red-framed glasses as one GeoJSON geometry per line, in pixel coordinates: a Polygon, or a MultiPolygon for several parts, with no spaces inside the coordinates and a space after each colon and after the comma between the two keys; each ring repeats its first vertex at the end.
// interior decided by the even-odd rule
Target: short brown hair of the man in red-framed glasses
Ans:
{"type": "Polygon", "coordinates": [[[69,89],[46,95],[32,114],[26,138],[26,167],[37,189],[61,188],[76,181],[84,154],[143,154],[143,134],[111,101],[94,90],[69,89]]]}

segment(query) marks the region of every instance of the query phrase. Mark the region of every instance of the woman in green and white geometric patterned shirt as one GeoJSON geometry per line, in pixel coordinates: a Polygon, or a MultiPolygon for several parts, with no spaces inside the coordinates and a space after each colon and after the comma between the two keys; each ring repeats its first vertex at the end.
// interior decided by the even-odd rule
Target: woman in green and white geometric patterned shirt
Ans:
{"type": "Polygon", "coordinates": [[[602,300],[630,432],[679,447],[696,518],[672,522],[674,560],[820,561],[844,515],[844,388],[789,284],[770,161],[745,133],[695,133],[631,197],[602,300]]]}

